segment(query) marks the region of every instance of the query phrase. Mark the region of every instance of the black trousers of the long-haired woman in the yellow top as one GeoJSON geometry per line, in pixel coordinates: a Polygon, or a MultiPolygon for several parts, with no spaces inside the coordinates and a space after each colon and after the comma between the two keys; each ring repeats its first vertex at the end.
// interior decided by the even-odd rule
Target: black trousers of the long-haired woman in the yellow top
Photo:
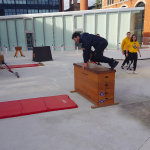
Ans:
{"type": "Polygon", "coordinates": [[[137,66],[138,55],[137,55],[137,53],[129,53],[128,57],[129,57],[129,67],[133,63],[133,68],[134,68],[134,71],[135,71],[136,70],[136,66],[137,66]]]}

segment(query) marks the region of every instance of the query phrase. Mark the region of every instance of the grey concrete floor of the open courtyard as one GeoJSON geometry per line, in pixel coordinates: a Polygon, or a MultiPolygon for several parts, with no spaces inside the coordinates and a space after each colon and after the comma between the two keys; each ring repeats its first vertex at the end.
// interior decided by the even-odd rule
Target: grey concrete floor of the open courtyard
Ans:
{"type": "MultiPolygon", "coordinates": [[[[32,51],[24,54],[14,58],[8,52],[5,61],[33,63],[32,51]]],[[[120,60],[115,85],[120,104],[91,109],[90,101],[69,92],[81,51],[54,51],[53,59],[44,67],[13,69],[19,79],[0,70],[0,102],[67,94],[79,107],[1,119],[0,150],[150,150],[150,60],[138,61],[138,74],[126,74],[120,60]]]]}

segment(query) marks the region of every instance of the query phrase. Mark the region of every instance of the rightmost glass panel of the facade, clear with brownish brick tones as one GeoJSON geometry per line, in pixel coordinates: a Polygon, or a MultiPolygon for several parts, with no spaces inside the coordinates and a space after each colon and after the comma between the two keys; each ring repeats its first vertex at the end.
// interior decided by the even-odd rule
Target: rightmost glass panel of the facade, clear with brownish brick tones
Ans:
{"type": "Polygon", "coordinates": [[[131,26],[130,31],[131,34],[137,35],[137,40],[142,44],[142,37],[143,37],[143,15],[144,11],[131,11],[131,26]]]}

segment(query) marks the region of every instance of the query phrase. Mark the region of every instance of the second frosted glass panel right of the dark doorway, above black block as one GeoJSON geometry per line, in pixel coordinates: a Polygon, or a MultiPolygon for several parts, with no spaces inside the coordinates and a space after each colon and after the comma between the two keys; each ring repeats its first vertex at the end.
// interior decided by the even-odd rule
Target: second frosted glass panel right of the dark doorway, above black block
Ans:
{"type": "Polygon", "coordinates": [[[53,21],[52,17],[44,18],[45,46],[54,46],[53,44],[53,21]]]}

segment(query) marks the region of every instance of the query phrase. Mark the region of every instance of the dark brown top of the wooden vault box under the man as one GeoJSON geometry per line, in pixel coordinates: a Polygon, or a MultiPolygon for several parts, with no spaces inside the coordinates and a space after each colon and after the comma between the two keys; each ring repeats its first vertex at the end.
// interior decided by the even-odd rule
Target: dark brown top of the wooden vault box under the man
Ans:
{"type": "MultiPolygon", "coordinates": [[[[77,66],[79,68],[82,68],[83,63],[73,63],[74,66],[77,66]]],[[[115,73],[116,70],[111,70],[110,68],[106,68],[103,66],[99,66],[96,64],[89,63],[89,68],[85,68],[85,70],[88,70],[90,72],[100,74],[100,73],[115,73]]]]}

